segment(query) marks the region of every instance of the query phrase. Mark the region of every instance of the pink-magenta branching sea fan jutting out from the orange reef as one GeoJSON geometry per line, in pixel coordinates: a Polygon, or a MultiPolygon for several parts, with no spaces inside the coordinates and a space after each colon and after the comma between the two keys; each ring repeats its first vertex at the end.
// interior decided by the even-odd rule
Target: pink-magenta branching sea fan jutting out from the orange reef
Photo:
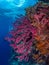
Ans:
{"type": "Polygon", "coordinates": [[[36,28],[30,25],[27,17],[24,17],[23,23],[19,26],[16,26],[16,23],[14,23],[14,28],[10,32],[11,38],[7,37],[6,39],[11,42],[10,46],[14,51],[20,54],[20,56],[15,58],[28,61],[28,55],[32,51],[34,35],[36,35],[36,28]]]}

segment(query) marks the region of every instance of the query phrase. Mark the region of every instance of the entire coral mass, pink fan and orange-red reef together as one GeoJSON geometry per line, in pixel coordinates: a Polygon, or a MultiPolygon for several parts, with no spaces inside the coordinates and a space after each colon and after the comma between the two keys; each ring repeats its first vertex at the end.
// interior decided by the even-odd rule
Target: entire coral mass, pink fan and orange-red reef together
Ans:
{"type": "Polygon", "coordinates": [[[15,58],[28,61],[31,55],[38,64],[45,63],[49,57],[49,5],[39,2],[26,8],[26,16],[20,21],[18,26],[17,21],[14,23],[11,36],[6,38],[18,53],[15,58]]]}

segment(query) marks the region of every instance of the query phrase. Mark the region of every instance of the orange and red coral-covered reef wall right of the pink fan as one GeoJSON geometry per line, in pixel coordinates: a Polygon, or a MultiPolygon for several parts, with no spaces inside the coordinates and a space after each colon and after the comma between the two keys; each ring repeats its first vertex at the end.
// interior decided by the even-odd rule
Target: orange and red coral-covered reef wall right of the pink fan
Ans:
{"type": "Polygon", "coordinates": [[[39,51],[39,54],[34,54],[33,58],[38,62],[43,61],[43,59],[45,61],[49,55],[49,5],[40,2],[35,7],[30,7],[29,10],[26,9],[29,12],[27,13],[27,17],[31,25],[37,28],[37,35],[35,36],[37,42],[35,47],[39,51]]]}

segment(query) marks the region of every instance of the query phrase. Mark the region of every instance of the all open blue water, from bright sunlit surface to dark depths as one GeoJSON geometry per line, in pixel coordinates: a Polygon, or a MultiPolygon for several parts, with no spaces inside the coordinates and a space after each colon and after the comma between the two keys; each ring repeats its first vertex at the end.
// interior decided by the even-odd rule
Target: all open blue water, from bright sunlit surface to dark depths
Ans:
{"type": "Polygon", "coordinates": [[[9,43],[4,40],[11,30],[11,23],[17,15],[25,15],[24,9],[33,6],[38,0],[0,0],[0,65],[9,65],[11,48],[9,43]]]}

